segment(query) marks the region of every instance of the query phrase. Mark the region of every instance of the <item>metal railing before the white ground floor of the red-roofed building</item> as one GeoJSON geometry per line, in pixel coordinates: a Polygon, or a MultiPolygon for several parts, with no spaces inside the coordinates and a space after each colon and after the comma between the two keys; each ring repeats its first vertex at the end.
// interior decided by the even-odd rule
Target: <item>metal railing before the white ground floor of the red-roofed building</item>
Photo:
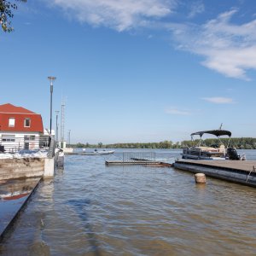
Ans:
{"type": "Polygon", "coordinates": [[[36,137],[26,135],[23,137],[3,136],[0,137],[0,151],[16,153],[20,150],[36,150],[40,148],[49,148],[49,136],[36,137]]]}

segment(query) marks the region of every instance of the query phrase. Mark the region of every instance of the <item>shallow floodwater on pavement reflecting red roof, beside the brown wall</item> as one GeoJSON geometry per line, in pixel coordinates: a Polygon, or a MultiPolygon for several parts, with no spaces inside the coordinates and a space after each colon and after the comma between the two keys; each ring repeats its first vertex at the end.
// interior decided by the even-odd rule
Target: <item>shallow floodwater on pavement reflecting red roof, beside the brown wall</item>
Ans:
{"type": "Polygon", "coordinates": [[[0,237],[40,178],[14,179],[0,183],[0,237]]]}

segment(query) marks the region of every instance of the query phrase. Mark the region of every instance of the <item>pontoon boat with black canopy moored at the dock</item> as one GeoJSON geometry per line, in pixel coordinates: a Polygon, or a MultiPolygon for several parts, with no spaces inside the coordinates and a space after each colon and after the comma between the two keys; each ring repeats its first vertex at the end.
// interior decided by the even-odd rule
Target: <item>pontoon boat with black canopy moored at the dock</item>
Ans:
{"type": "Polygon", "coordinates": [[[231,132],[225,130],[211,130],[211,131],[197,131],[191,134],[191,140],[194,142],[194,136],[199,136],[200,140],[198,144],[194,147],[183,148],[183,159],[192,160],[245,160],[245,155],[237,154],[236,148],[230,148],[230,137],[231,132]],[[219,146],[212,145],[211,147],[202,146],[202,136],[204,134],[211,134],[218,138],[219,146]],[[224,145],[221,142],[220,137],[228,136],[228,144],[224,145]]]}

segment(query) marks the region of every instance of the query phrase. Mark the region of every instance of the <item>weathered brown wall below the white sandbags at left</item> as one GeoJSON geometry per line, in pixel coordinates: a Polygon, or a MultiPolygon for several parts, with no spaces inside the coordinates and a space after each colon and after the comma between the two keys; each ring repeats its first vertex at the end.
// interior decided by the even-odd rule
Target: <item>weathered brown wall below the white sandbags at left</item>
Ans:
{"type": "Polygon", "coordinates": [[[0,180],[42,177],[44,166],[44,158],[0,159],[0,180]]]}

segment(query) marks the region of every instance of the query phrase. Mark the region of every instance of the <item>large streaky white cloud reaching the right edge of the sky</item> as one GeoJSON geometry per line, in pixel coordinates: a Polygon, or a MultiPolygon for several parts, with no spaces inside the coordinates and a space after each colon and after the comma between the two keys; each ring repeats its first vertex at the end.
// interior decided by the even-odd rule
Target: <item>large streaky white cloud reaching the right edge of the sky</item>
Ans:
{"type": "Polygon", "coordinates": [[[201,64],[218,73],[248,80],[247,69],[256,69],[256,20],[232,24],[236,12],[232,9],[201,26],[171,24],[177,48],[204,56],[201,64]]]}

